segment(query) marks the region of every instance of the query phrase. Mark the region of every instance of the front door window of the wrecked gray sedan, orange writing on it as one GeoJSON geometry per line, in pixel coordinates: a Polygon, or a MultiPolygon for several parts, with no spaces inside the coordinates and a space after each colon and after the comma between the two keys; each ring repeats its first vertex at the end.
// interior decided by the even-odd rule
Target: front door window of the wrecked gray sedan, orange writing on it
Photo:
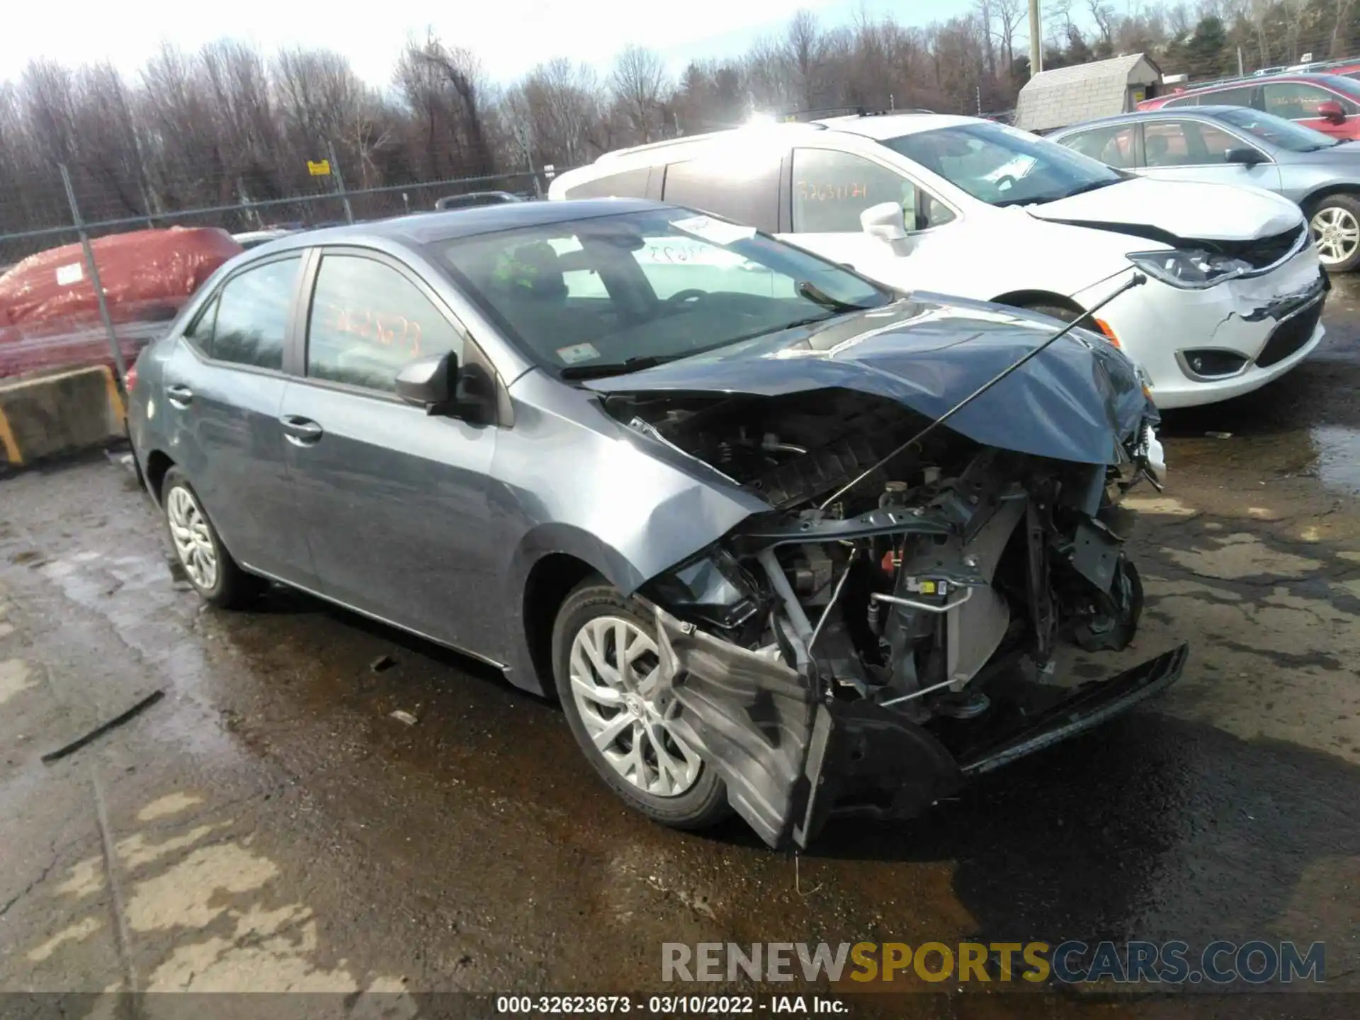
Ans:
{"type": "Polygon", "coordinates": [[[411,280],[362,256],[321,260],[307,324],[307,375],[390,393],[403,366],[462,336],[411,280]]]}

